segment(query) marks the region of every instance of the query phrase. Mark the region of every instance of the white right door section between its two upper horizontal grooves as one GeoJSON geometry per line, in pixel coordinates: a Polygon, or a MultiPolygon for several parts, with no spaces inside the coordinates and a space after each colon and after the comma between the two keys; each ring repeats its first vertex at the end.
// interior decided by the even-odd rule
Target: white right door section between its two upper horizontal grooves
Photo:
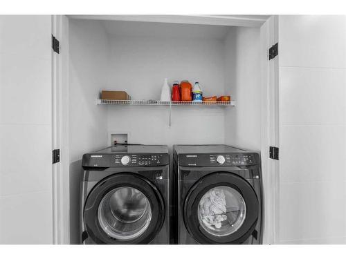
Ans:
{"type": "Polygon", "coordinates": [[[282,124],[345,124],[345,69],[280,68],[282,124]]]}

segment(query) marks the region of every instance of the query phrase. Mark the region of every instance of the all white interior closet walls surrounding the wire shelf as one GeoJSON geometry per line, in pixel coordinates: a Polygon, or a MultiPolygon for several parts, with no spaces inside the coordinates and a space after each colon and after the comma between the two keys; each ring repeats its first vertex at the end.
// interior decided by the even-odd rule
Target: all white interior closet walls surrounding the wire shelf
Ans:
{"type": "MultiPolygon", "coordinates": [[[[71,39],[75,41],[75,49],[71,47],[70,50],[71,73],[82,75],[71,75],[73,97],[70,102],[71,105],[80,102],[78,106],[71,106],[73,161],[79,160],[82,153],[95,149],[93,147],[97,143],[93,142],[100,143],[95,137],[90,141],[91,135],[105,133],[102,126],[95,126],[94,117],[100,122],[98,125],[107,122],[108,135],[127,133],[128,141],[132,143],[172,145],[226,142],[260,151],[258,28],[71,20],[71,31],[78,24],[78,30],[76,27],[75,32],[71,32],[75,38],[71,39]],[[87,46],[95,48],[93,35],[88,35],[89,30],[95,27],[100,29],[97,33],[102,34],[97,39],[100,41],[108,37],[109,44],[100,44],[102,48],[86,50],[85,54],[87,46]],[[107,53],[107,56],[103,61],[96,61],[92,58],[95,51],[107,53]],[[165,77],[170,84],[183,79],[188,79],[192,84],[199,81],[204,96],[232,95],[238,101],[237,107],[173,107],[172,125],[169,126],[167,107],[90,106],[101,89],[125,90],[132,99],[160,99],[165,77]],[[84,80],[82,84],[80,80],[84,80]],[[102,85],[104,80],[106,83],[102,85]],[[86,90],[83,92],[83,89],[86,90]],[[79,93],[85,96],[80,98],[79,93]],[[82,119],[79,115],[85,113],[86,108],[91,109],[91,113],[86,113],[82,119]]],[[[109,136],[102,141],[107,140],[109,136]]]]}

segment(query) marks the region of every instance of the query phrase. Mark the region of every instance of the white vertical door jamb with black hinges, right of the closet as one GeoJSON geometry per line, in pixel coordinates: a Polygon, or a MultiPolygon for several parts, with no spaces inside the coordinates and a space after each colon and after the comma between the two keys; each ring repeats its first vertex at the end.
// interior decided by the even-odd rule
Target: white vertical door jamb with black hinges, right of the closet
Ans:
{"type": "Polygon", "coordinates": [[[278,43],[278,16],[271,16],[261,27],[262,126],[261,160],[264,193],[264,244],[274,244],[277,233],[279,161],[269,158],[269,146],[279,146],[279,62],[268,60],[268,49],[278,43]],[[265,39],[264,39],[265,38],[265,39]]]}

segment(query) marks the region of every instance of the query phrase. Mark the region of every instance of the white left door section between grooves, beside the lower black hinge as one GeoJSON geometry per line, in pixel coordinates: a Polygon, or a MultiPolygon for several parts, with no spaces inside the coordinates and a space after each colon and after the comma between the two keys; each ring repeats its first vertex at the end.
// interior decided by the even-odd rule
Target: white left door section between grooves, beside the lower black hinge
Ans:
{"type": "Polygon", "coordinates": [[[0,131],[0,196],[51,191],[51,126],[0,125],[0,131]]]}

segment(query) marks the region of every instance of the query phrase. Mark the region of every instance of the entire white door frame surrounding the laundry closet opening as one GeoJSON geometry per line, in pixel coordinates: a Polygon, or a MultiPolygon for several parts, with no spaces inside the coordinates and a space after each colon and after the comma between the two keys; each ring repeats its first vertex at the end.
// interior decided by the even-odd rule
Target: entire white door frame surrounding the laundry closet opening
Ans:
{"type": "Polygon", "coordinates": [[[261,49],[261,160],[264,186],[264,244],[273,244],[277,232],[278,162],[269,158],[269,146],[278,146],[279,95],[277,57],[268,60],[268,48],[277,42],[278,17],[256,15],[52,15],[52,33],[60,41],[53,53],[53,148],[61,161],[53,164],[54,244],[70,243],[69,198],[69,19],[109,19],[163,23],[190,23],[260,28],[261,49]]]}

